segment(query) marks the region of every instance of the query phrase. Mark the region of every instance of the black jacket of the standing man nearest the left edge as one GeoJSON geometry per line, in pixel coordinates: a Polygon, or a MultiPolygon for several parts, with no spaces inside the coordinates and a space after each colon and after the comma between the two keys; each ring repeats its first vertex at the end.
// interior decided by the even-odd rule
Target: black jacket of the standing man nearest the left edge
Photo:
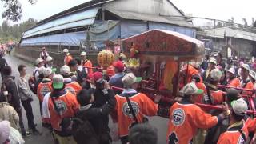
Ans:
{"type": "Polygon", "coordinates": [[[13,106],[14,109],[17,111],[21,108],[20,106],[20,98],[18,96],[18,90],[17,90],[17,86],[16,83],[14,82],[14,78],[13,76],[4,76],[3,81],[6,81],[6,90],[8,91],[8,93],[11,95],[11,99],[10,99],[10,106],[13,106]],[[7,80],[7,78],[9,78],[7,80]]]}

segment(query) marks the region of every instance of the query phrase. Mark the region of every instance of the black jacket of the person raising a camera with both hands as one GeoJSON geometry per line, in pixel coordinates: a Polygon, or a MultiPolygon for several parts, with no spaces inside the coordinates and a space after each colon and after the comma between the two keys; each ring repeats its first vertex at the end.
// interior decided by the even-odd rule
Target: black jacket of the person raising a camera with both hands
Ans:
{"type": "Polygon", "coordinates": [[[109,114],[112,110],[114,110],[116,105],[114,91],[107,91],[108,94],[103,95],[106,98],[106,102],[102,106],[97,107],[92,105],[89,109],[79,110],[77,114],[78,118],[86,118],[90,121],[97,135],[109,133],[109,114]]]}

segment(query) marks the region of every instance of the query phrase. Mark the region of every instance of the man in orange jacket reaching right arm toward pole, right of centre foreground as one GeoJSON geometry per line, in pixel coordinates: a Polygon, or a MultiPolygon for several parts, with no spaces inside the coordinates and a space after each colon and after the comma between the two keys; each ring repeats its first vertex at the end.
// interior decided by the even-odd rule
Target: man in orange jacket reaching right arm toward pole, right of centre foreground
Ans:
{"type": "MultiPolygon", "coordinates": [[[[224,113],[218,116],[206,114],[200,107],[194,105],[198,94],[203,90],[198,89],[194,82],[187,84],[180,91],[182,102],[176,102],[170,107],[170,122],[167,132],[167,143],[187,144],[197,134],[198,128],[207,129],[221,122],[224,113]]],[[[227,108],[226,108],[227,110],[227,108]]]]}

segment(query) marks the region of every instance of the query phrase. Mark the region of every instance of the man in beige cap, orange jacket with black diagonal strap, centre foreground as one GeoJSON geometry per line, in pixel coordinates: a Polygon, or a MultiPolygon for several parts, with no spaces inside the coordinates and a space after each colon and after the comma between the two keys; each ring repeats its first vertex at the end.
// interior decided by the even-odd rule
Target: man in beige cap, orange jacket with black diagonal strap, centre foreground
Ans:
{"type": "Polygon", "coordinates": [[[134,74],[128,73],[122,78],[125,90],[115,96],[117,105],[115,114],[117,115],[119,137],[122,144],[128,142],[128,131],[130,127],[147,122],[146,116],[155,116],[158,112],[158,103],[160,99],[153,102],[146,94],[138,93],[136,88],[142,78],[136,78],[134,74]]]}

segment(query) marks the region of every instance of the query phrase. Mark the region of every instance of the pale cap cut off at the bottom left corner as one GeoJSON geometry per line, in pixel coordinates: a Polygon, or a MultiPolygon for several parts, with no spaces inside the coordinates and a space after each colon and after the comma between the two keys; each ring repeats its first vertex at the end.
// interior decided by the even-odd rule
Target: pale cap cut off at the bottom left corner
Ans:
{"type": "Polygon", "coordinates": [[[0,122],[0,143],[6,142],[10,135],[10,122],[2,121],[0,122]]]}

